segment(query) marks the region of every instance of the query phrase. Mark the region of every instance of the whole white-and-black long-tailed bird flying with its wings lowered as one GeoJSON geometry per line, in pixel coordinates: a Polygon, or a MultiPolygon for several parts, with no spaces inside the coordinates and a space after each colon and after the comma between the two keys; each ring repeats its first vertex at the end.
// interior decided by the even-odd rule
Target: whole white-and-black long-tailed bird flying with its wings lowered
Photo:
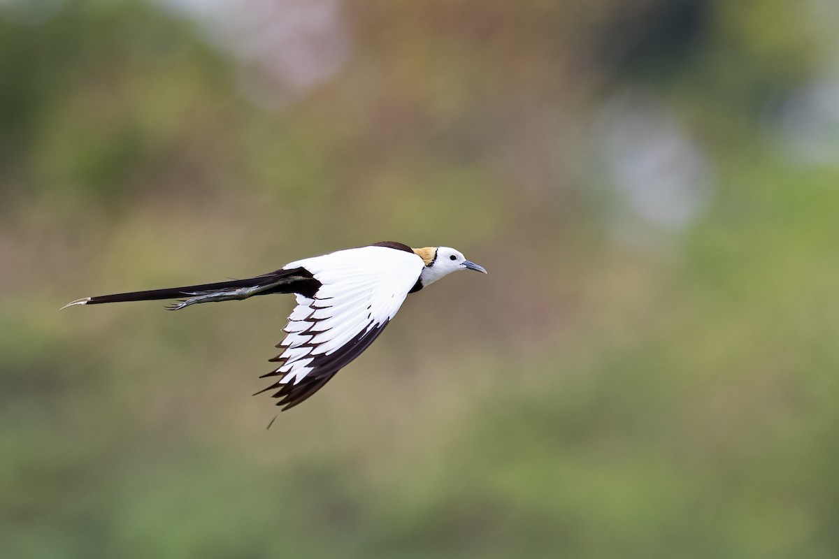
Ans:
{"type": "Polygon", "coordinates": [[[361,355],[382,334],[409,293],[459,270],[487,273],[447,246],[411,248],[385,241],[290,262],[248,279],[86,297],[65,308],[180,299],[167,306],[178,310],[195,303],[295,293],[297,306],[283,329],[285,339],[277,344],[282,351],[269,360],[277,368],[260,377],[278,378],[257,392],[276,391],[277,406],[284,406],[285,411],[320,390],[361,355]]]}

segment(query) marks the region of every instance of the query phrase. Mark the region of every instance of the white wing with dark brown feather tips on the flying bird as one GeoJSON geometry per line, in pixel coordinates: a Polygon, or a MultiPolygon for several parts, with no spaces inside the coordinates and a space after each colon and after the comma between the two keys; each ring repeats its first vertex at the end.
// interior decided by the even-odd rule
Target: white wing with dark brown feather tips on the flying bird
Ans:
{"type": "MultiPolygon", "coordinates": [[[[313,297],[297,295],[297,306],[277,344],[280,363],[268,376],[279,380],[263,391],[284,410],[318,391],[341,367],[361,355],[399,311],[424,267],[420,256],[383,246],[337,251],[291,262],[320,282],[313,297]]],[[[263,392],[260,391],[260,392],[263,392]]],[[[258,392],[259,393],[259,392],[258,392]]]]}

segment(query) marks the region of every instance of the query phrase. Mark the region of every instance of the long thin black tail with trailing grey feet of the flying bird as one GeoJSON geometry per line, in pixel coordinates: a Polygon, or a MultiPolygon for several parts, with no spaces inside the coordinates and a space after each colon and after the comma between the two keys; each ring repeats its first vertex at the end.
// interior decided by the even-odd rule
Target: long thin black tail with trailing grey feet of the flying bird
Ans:
{"type": "Polygon", "coordinates": [[[207,295],[216,292],[227,292],[242,287],[265,287],[265,289],[254,292],[254,295],[267,295],[268,293],[300,293],[306,297],[313,297],[320,288],[320,282],[312,277],[311,272],[303,267],[291,270],[277,270],[268,272],[262,276],[249,277],[242,280],[230,280],[227,282],[202,283],[201,285],[189,285],[184,287],[167,287],[165,289],[152,289],[149,291],[133,291],[127,293],[114,293],[113,295],[99,295],[98,297],[87,297],[74,301],[71,305],[95,305],[99,303],[123,303],[127,301],[156,301],[159,299],[178,299],[195,297],[196,295],[207,295]]]}

